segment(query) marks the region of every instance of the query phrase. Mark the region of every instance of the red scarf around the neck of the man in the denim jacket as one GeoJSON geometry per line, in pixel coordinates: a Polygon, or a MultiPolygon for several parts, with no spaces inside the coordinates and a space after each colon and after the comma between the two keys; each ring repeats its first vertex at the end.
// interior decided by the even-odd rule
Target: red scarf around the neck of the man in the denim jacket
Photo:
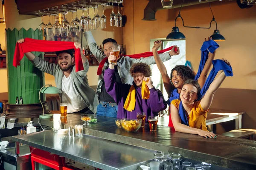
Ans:
{"type": "MultiPolygon", "coordinates": [[[[173,46],[169,47],[169,48],[166,48],[166,49],[163,49],[163,50],[160,50],[160,51],[157,51],[158,54],[162,54],[166,51],[170,51],[172,50],[173,46]]],[[[177,52],[177,48],[174,49],[175,52],[177,52]]],[[[129,56],[130,58],[135,58],[135,59],[139,59],[141,57],[145,58],[145,57],[150,57],[150,56],[153,56],[153,52],[145,52],[145,53],[140,53],[140,54],[133,54],[133,55],[123,55],[124,57],[125,56],[129,56]]],[[[100,75],[102,74],[102,69],[103,69],[103,66],[105,64],[105,62],[108,61],[108,57],[105,57],[104,59],[102,59],[102,61],[99,63],[99,67],[98,67],[98,71],[97,71],[97,75],[100,75]]]]}

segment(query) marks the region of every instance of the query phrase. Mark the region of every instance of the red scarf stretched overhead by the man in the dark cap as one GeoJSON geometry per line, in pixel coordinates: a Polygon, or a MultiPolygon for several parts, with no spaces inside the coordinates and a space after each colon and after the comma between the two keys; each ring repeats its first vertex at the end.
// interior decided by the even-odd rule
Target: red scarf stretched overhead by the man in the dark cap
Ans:
{"type": "Polygon", "coordinates": [[[24,53],[31,51],[55,52],[69,49],[75,49],[76,72],[84,70],[80,49],[76,48],[74,42],[66,41],[46,41],[25,38],[23,43],[16,43],[12,65],[17,67],[24,56],[24,53]]]}

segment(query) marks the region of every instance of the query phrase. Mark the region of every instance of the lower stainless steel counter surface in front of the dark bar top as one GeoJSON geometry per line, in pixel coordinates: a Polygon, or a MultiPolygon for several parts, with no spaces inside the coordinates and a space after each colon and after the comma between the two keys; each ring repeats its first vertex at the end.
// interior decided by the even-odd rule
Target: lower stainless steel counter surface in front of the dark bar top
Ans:
{"type": "Polygon", "coordinates": [[[154,151],[89,135],[58,135],[52,130],[13,136],[27,144],[103,170],[135,170],[138,164],[154,159],[154,151]]]}

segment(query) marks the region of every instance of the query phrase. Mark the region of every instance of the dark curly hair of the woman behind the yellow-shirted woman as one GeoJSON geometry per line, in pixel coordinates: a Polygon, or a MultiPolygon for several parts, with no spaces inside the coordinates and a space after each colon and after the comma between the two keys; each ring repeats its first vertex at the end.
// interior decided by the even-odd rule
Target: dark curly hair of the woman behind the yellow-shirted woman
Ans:
{"type": "Polygon", "coordinates": [[[173,68],[171,71],[170,79],[172,79],[173,71],[177,71],[177,74],[180,76],[181,79],[183,79],[183,81],[186,81],[187,79],[195,79],[195,73],[185,65],[176,65],[175,68],[173,68]]]}

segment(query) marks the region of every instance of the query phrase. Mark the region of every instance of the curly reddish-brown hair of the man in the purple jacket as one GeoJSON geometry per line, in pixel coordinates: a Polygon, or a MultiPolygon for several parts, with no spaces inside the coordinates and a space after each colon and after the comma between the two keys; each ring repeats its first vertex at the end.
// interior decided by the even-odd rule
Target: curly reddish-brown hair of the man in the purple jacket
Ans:
{"type": "Polygon", "coordinates": [[[150,77],[152,75],[151,68],[149,67],[149,65],[141,62],[133,64],[131,66],[130,68],[131,76],[133,76],[132,74],[134,73],[142,73],[145,77],[150,77]]]}

